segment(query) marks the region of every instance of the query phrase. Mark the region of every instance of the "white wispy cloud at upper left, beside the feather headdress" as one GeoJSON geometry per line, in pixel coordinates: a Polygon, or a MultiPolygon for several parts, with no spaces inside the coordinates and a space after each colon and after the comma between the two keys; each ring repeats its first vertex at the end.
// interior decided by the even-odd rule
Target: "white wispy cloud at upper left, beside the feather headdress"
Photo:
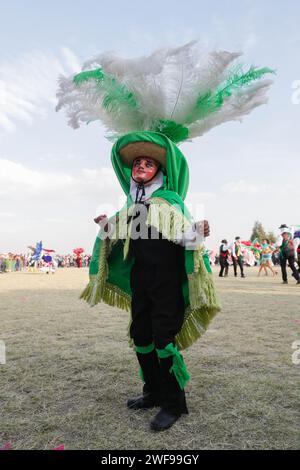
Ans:
{"type": "Polygon", "coordinates": [[[78,70],[78,59],[67,47],[58,56],[34,51],[0,62],[0,128],[12,132],[18,121],[45,116],[55,106],[58,76],[78,70]]]}

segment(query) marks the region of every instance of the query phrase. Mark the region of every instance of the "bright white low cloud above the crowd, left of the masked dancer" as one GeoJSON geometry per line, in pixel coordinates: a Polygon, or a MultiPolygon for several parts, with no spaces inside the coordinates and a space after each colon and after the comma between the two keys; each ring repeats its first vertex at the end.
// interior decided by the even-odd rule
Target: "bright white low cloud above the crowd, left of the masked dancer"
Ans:
{"type": "Polygon", "coordinates": [[[85,168],[73,174],[40,171],[0,159],[0,251],[26,251],[43,240],[67,252],[92,249],[98,227],[93,218],[122,207],[124,195],[113,169],[85,168]]]}

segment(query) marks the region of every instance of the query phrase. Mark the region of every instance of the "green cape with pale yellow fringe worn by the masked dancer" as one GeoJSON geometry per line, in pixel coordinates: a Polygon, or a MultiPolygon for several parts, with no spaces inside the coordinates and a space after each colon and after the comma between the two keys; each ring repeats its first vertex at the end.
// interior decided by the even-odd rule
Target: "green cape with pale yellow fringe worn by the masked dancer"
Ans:
{"type": "MultiPolygon", "coordinates": [[[[110,221],[115,225],[116,236],[104,239],[100,231],[94,245],[90,263],[90,282],[81,294],[91,306],[103,301],[111,306],[130,311],[130,270],[133,259],[127,259],[130,243],[128,215],[134,208],[130,196],[131,168],[126,167],[119,151],[129,143],[152,142],[166,149],[166,176],[164,186],[153,192],[147,221],[170,241],[175,242],[178,233],[184,233],[192,223],[184,205],[189,171],[185,157],[166,136],[156,132],[136,132],[121,137],[112,149],[112,164],[121,187],[127,195],[125,206],[110,221]]],[[[186,279],[182,284],[185,302],[183,326],[175,340],[178,349],[191,346],[207,329],[214,315],[220,310],[213,284],[210,264],[202,246],[185,250],[186,279]]]]}

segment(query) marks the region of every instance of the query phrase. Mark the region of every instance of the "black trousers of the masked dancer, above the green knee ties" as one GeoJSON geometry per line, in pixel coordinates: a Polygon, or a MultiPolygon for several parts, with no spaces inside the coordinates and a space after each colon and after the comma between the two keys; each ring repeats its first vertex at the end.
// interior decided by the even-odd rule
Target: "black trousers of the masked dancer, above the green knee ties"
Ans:
{"type": "Polygon", "coordinates": [[[184,318],[182,264],[146,264],[135,261],[131,270],[130,336],[136,346],[154,342],[164,349],[174,342],[184,318]]]}

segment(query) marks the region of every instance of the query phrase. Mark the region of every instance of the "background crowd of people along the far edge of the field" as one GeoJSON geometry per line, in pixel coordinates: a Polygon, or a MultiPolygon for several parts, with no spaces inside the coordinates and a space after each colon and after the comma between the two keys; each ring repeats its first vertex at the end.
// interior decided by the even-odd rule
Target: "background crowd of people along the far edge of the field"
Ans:
{"type": "MultiPolygon", "coordinates": [[[[276,266],[280,265],[283,284],[288,284],[288,265],[297,284],[300,284],[300,230],[294,232],[286,224],[282,224],[279,229],[281,234],[276,243],[270,243],[267,238],[247,242],[242,241],[240,237],[235,237],[234,242],[228,243],[224,238],[218,252],[207,252],[210,263],[220,265],[220,277],[228,277],[229,268],[232,266],[234,276],[240,274],[242,278],[246,277],[245,266],[258,266],[258,276],[262,271],[265,275],[270,272],[276,276],[276,266]]],[[[33,247],[29,247],[32,248],[32,253],[28,254],[0,253],[0,273],[28,269],[49,274],[54,273],[57,268],[88,268],[90,265],[91,255],[86,254],[83,248],[75,248],[73,253],[61,255],[54,250],[42,248],[42,242],[38,245],[38,258],[33,254],[37,252],[33,247]]]]}

